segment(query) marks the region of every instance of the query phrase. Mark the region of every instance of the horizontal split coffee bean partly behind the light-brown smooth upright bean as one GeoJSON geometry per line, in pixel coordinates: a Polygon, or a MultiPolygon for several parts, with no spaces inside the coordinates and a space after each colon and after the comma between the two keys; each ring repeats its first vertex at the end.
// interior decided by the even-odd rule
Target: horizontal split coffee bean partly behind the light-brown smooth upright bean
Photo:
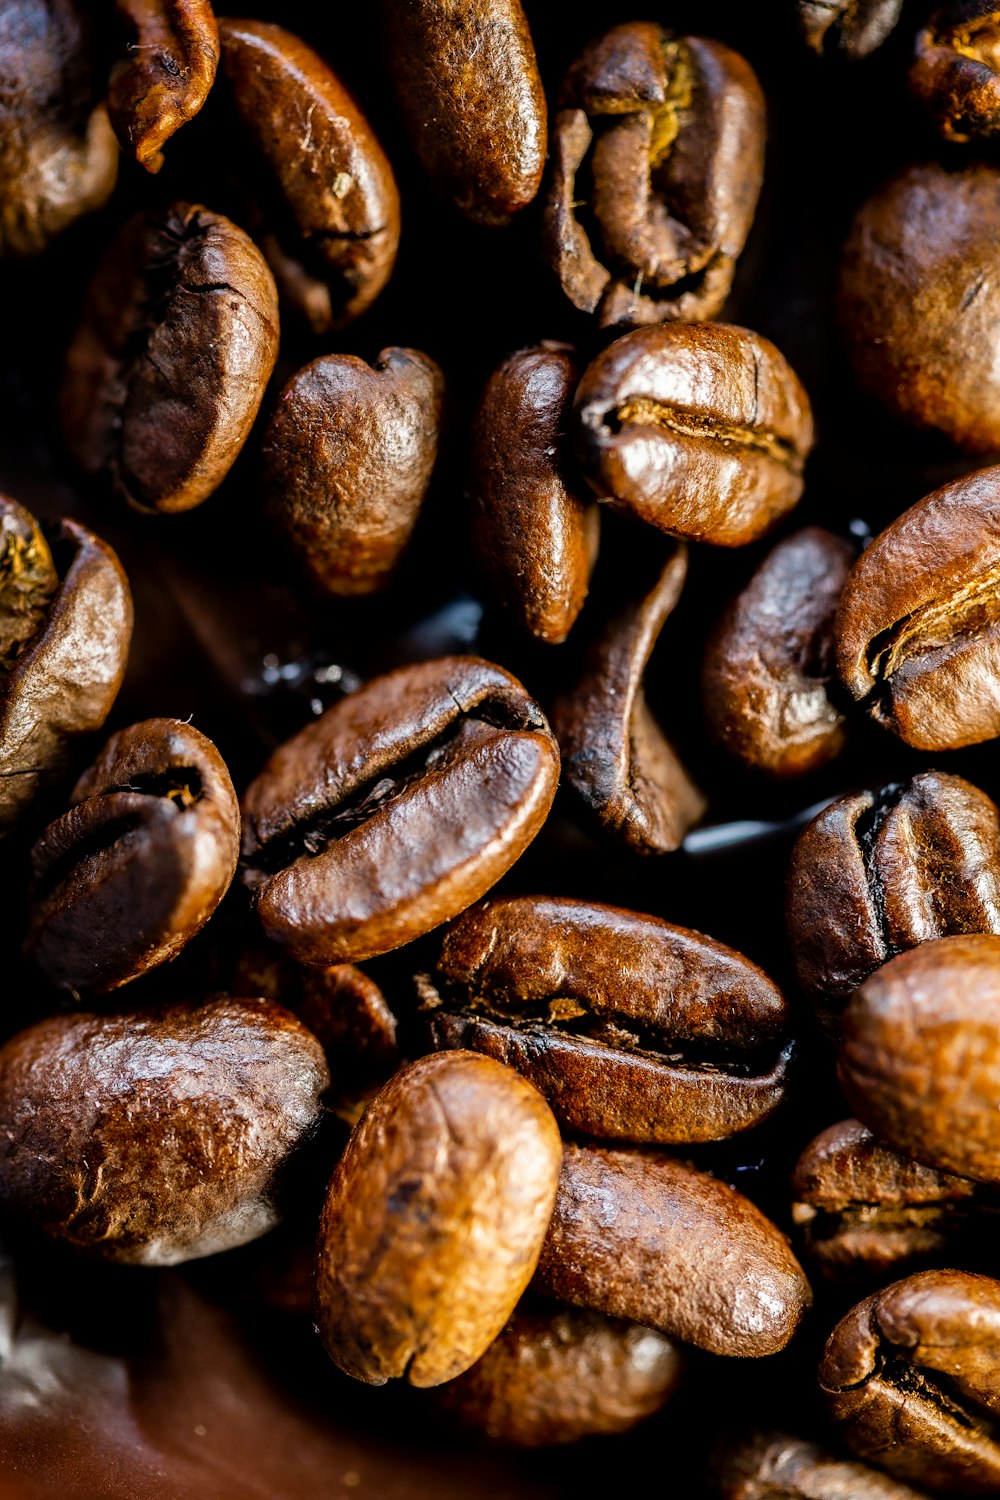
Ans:
{"type": "Polygon", "coordinates": [[[435,1047],[517,1068],[570,1131],[718,1140],[784,1094],[780,990],[742,954],[658,916],[483,902],[447,930],[421,993],[435,1047]]]}

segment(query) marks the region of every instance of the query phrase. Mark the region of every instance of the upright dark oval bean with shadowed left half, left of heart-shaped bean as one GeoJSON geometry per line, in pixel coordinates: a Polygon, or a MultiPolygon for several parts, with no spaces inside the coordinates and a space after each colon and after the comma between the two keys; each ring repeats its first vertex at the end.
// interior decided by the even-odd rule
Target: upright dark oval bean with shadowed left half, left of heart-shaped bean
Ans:
{"type": "Polygon", "coordinates": [[[90,285],[63,434],[136,510],[189,510],[243,447],[276,357],[274,282],[243,230],[196,204],[139,214],[90,285]]]}

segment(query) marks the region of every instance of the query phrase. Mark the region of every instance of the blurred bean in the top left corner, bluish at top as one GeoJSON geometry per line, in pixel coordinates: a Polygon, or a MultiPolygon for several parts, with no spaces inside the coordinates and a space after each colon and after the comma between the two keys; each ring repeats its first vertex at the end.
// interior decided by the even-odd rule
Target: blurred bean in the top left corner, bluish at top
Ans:
{"type": "Polygon", "coordinates": [[[3,8],[0,255],[37,255],[111,196],[118,147],[99,102],[88,12],[75,0],[3,8]]]}

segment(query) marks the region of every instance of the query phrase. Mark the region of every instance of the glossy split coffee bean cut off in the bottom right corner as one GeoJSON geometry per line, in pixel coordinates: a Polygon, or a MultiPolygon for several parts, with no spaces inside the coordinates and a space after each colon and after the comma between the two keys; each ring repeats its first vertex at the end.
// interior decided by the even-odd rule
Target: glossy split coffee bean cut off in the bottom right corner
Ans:
{"type": "Polygon", "coordinates": [[[1000,1490],[1000,1281],[922,1270],[831,1334],[820,1386],[862,1458],[945,1494],[1000,1490]]]}

